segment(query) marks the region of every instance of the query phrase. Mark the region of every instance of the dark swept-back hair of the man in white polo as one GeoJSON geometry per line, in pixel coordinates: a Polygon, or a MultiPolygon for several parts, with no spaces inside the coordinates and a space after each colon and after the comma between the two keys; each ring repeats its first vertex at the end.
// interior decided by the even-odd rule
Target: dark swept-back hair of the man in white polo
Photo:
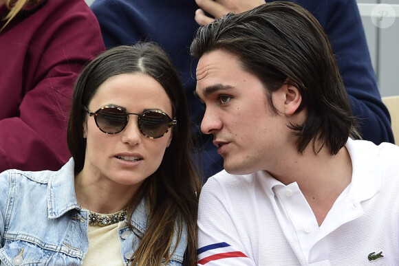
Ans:
{"type": "Polygon", "coordinates": [[[327,145],[335,155],[349,136],[360,137],[327,36],[301,6],[266,3],[200,27],[191,55],[200,58],[215,49],[238,56],[241,67],[261,80],[276,113],[272,92],[286,84],[299,89],[302,102],[296,113],[307,109],[308,118],[288,126],[298,136],[300,153],[312,142],[315,153],[327,145]]]}

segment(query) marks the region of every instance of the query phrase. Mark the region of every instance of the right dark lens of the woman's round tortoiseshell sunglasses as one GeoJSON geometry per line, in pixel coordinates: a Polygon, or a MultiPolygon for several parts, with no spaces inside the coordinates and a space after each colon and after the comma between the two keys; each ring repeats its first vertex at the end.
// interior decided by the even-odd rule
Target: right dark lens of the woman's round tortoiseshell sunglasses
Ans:
{"type": "Polygon", "coordinates": [[[147,111],[139,120],[140,130],[148,137],[162,137],[169,129],[171,119],[168,115],[156,111],[147,111]]]}

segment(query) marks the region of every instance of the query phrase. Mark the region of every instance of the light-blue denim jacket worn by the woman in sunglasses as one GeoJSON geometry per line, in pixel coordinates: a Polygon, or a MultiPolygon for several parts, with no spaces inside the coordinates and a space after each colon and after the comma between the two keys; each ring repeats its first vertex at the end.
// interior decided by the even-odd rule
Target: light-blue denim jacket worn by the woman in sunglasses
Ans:
{"type": "MultiPolygon", "coordinates": [[[[74,160],[61,170],[0,173],[0,265],[82,265],[89,248],[89,211],[80,209],[74,189],[74,160]]],[[[140,203],[118,225],[125,265],[147,229],[147,208],[140,203]]],[[[173,239],[173,247],[177,236],[173,239]]],[[[187,245],[183,232],[169,265],[182,265],[187,245]]],[[[172,247],[172,250],[173,250],[172,247]]]]}

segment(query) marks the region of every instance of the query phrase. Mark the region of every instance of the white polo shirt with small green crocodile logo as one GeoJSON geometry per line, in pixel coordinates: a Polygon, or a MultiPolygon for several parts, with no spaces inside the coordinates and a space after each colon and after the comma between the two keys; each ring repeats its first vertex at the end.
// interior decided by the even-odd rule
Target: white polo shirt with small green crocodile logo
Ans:
{"type": "Polygon", "coordinates": [[[352,182],[320,227],[296,182],[265,171],[208,179],[197,265],[399,265],[399,146],[346,147],[352,182]]]}

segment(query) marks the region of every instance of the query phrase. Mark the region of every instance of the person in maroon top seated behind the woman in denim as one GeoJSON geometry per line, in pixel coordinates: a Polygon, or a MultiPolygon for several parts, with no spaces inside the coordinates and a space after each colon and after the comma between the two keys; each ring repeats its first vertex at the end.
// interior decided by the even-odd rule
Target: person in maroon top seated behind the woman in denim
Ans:
{"type": "Polygon", "coordinates": [[[104,50],[84,0],[0,0],[0,171],[67,162],[73,85],[104,50]]]}

